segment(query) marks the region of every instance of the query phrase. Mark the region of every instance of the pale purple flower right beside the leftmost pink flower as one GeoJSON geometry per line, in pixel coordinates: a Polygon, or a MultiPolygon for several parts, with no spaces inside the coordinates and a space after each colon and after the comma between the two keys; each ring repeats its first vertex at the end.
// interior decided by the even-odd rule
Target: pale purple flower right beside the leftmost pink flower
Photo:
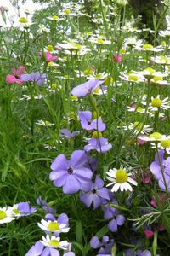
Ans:
{"type": "Polygon", "coordinates": [[[20,77],[20,79],[23,82],[35,82],[38,85],[44,84],[46,78],[47,78],[47,75],[45,73],[40,73],[39,71],[35,73],[25,73],[20,77]]]}

